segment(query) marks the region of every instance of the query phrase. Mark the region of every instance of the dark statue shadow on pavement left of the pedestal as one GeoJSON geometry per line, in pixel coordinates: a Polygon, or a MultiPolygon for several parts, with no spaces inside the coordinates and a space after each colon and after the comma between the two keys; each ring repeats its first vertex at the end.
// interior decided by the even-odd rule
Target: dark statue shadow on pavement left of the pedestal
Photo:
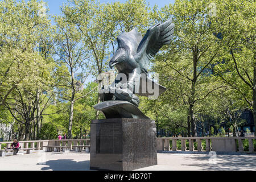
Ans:
{"type": "MultiPolygon", "coordinates": [[[[41,165],[41,164],[37,164],[41,165]]],[[[41,170],[53,170],[53,171],[89,171],[90,170],[90,161],[85,160],[82,162],[76,162],[72,159],[60,159],[60,160],[48,160],[41,170]]]]}

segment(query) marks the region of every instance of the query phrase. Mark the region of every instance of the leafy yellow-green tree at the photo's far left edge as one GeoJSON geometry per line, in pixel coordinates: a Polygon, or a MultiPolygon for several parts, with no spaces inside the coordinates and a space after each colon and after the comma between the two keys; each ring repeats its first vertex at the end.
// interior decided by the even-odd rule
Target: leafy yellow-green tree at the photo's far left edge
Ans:
{"type": "Polygon", "coordinates": [[[49,61],[39,53],[40,40],[50,24],[47,14],[39,14],[40,9],[41,3],[35,0],[0,3],[0,105],[25,125],[26,139],[35,119],[35,90],[43,87],[42,80],[44,84],[49,81],[51,69],[49,61]]]}

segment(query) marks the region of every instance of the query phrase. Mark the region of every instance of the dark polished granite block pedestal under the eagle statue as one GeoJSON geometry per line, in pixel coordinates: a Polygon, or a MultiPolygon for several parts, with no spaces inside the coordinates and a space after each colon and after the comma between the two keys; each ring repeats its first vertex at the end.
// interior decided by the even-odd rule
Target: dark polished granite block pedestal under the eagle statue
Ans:
{"type": "Polygon", "coordinates": [[[157,164],[155,121],[93,120],[90,133],[90,169],[130,171],[157,164]]]}

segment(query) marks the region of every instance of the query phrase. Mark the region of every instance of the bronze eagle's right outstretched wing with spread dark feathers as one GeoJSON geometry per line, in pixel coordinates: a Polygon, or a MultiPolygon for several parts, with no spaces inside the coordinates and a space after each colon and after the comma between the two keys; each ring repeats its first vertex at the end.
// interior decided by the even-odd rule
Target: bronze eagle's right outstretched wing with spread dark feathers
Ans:
{"type": "Polygon", "coordinates": [[[142,72],[147,73],[147,67],[152,57],[158,53],[165,44],[170,44],[174,34],[174,23],[168,19],[164,23],[158,23],[149,28],[138,46],[135,60],[141,64],[142,72]]]}

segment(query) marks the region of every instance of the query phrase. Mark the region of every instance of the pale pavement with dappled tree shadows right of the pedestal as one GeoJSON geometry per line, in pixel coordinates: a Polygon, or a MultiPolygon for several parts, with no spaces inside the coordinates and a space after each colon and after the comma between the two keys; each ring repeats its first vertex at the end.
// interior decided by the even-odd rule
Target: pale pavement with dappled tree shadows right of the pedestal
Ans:
{"type": "Polygon", "coordinates": [[[254,155],[158,154],[158,165],[138,171],[221,171],[256,170],[254,155]]]}

